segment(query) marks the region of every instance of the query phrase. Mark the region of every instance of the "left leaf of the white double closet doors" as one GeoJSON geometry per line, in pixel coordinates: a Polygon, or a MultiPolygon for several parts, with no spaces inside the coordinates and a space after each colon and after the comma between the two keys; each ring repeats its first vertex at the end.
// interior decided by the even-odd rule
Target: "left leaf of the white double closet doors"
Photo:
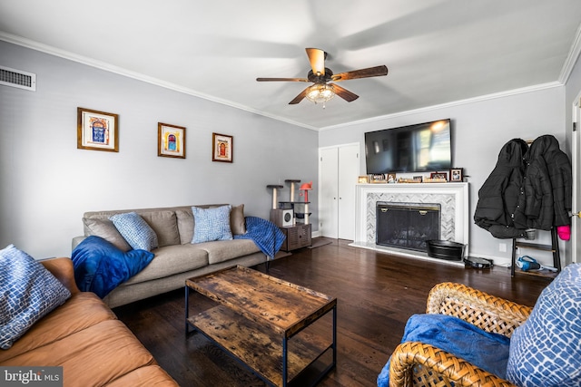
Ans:
{"type": "Polygon", "coordinates": [[[339,149],[320,150],[320,214],[319,227],[322,237],[339,236],[339,149]]]}

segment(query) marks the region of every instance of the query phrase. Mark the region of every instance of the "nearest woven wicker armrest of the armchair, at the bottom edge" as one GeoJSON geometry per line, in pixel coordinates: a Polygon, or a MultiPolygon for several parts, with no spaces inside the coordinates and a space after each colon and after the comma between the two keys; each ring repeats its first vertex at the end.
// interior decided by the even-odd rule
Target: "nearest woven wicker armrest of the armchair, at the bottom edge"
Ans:
{"type": "Polygon", "coordinates": [[[427,343],[398,345],[389,363],[389,386],[449,385],[516,387],[496,375],[427,343]],[[433,383],[433,384],[432,384],[433,383]]]}

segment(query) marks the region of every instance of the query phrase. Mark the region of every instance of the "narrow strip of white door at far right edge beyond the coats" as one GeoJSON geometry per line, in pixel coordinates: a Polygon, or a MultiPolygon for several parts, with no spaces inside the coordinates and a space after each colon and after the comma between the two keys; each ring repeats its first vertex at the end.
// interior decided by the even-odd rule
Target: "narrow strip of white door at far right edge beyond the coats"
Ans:
{"type": "Polygon", "coordinates": [[[573,262],[581,262],[581,94],[576,98],[573,106],[574,128],[572,136],[573,164],[573,218],[571,219],[571,256],[573,262]]]}

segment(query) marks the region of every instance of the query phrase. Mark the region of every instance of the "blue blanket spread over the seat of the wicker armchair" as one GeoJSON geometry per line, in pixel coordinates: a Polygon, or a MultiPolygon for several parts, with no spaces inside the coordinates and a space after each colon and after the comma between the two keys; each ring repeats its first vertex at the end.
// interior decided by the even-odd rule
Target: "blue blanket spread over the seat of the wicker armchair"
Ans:
{"type": "MultiPolygon", "coordinates": [[[[500,378],[507,378],[510,339],[489,334],[464,320],[444,314],[409,317],[401,343],[421,342],[438,347],[500,378]]],[[[389,361],[378,376],[378,386],[389,386],[389,361]]]]}

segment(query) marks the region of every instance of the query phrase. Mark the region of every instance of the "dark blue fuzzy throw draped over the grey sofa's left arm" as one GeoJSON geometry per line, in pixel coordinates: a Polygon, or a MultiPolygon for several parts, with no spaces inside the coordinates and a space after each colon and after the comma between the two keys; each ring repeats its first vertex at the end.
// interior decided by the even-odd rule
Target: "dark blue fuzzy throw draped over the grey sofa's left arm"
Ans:
{"type": "Polygon", "coordinates": [[[80,290],[103,298],[115,287],[148,266],[155,255],[147,250],[126,253],[102,237],[86,237],[74,247],[71,259],[74,280],[80,290]]]}

